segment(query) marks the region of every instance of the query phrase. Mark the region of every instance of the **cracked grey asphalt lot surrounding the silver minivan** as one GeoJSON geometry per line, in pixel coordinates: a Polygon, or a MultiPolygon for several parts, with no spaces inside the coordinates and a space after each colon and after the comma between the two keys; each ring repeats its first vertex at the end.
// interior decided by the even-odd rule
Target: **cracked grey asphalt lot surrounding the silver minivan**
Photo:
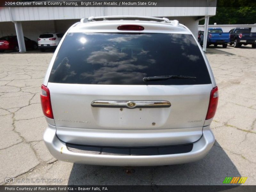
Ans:
{"type": "MultiPolygon", "coordinates": [[[[170,166],[94,166],[61,162],[44,145],[46,121],[40,86],[52,52],[0,54],[0,184],[4,178],[62,179],[62,185],[221,185],[225,177],[248,177],[256,185],[256,50],[208,49],[219,87],[211,128],[216,141],[202,160],[170,166]],[[224,52],[223,52],[224,51],[224,52]]],[[[29,184],[29,183],[27,183],[29,184]]]]}

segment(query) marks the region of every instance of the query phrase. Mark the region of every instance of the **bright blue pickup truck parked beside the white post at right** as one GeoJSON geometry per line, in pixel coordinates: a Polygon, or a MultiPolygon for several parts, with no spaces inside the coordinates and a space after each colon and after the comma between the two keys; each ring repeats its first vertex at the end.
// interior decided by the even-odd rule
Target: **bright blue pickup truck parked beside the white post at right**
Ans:
{"type": "MultiPolygon", "coordinates": [[[[200,44],[203,44],[204,36],[200,36],[200,44]]],[[[223,48],[226,48],[229,43],[229,33],[223,33],[221,28],[208,28],[208,37],[206,47],[214,45],[222,45],[223,48]]]]}

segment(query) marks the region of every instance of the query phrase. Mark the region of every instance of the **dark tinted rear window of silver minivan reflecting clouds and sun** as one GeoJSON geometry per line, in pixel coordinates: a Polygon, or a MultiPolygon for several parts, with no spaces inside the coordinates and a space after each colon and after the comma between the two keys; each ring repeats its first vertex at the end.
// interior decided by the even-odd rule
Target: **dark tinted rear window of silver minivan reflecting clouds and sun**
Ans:
{"type": "Polygon", "coordinates": [[[54,61],[52,83],[185,85],[211,84],[200,49],[189,34],[68,33],[54,61]],[[143,77],[196,79],[143,82],[143,77]]]}

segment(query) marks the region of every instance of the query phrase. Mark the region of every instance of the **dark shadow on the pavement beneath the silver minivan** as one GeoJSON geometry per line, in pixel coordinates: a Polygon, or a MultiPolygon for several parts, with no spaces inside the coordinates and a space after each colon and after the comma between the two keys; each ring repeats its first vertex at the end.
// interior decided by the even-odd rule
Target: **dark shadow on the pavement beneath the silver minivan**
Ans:
{"type": "Polygon", "coordinates": [[[124,167],[73,164],[68,185],[223,185],[226,177],[241,176],[217,141],[194,163],[132,169],[129,175],[124,167]]]}

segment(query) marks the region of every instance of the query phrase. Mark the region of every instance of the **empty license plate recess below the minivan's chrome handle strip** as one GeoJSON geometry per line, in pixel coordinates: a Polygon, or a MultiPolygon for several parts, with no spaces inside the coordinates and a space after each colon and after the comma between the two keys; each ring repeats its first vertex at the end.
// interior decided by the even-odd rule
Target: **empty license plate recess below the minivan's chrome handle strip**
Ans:
{"type": "Polygon", "coordinates": [[[95,121],[107,129],[155,129],[163,126],[171,108],[92,108],[95,121]]]}

